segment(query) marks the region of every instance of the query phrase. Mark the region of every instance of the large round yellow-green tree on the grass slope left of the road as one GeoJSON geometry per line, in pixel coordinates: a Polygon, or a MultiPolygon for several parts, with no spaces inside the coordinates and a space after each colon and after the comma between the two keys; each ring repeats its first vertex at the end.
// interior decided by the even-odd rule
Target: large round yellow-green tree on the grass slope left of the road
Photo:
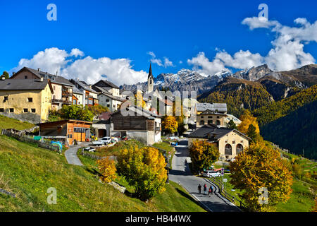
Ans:
{"type": "Polygon", "coordinates": [[[136,146],[121,150],[118,155],[118,174],[135,186],[135,193],[144,201],[165,191],[165,167],[165,159],[156,148],[136,146]]]}

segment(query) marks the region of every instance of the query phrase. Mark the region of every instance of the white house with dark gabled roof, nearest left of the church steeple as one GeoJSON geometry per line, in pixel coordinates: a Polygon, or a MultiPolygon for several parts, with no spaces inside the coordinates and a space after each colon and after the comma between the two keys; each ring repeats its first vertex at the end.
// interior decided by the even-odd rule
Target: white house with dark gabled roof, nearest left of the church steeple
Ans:
{"type": "Polygon", "coordinates": [[[101,80],[92,88],[98,93],[99,105],[108,107],[111,112],[115,112],[125,100],[120,95],[120,88],[109,81],[101,80]]]}

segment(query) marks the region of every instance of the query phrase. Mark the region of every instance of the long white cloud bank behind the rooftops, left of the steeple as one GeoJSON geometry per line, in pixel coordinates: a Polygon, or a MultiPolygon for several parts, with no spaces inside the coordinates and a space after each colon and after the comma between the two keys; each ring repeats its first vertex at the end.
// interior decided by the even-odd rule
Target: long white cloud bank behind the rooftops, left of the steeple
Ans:
{"type": "Polygon", "coordinates": [[[101,57],[94,59],[85,57],[84,59],[73,59],[73,57],[83,56],[80,49],[72,49],[70,54],[58,48],[45,49],[35,54],[32,59],[21,59],[19,64],[12,71],[18,71],[23,66],[32,69],[40,68],[41,71],[56,73],[66,78],[79,78],[87,83],[96,83],[102,76],[116,85],[135,84],[147,80],[147,72],[135,71],[132,69],[130,59],[110,59],[101,57]]]}

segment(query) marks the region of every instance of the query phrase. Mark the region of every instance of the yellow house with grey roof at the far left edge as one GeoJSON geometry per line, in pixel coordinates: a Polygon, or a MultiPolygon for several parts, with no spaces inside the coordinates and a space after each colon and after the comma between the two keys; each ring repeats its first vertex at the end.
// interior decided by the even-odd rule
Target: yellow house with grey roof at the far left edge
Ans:
{"type": "Polygon", "coordinates": [[[6,79],[0,81],[0,114],[39,123],[46,121],[53,94],[51,81],[39,79],[6,79]]]}

